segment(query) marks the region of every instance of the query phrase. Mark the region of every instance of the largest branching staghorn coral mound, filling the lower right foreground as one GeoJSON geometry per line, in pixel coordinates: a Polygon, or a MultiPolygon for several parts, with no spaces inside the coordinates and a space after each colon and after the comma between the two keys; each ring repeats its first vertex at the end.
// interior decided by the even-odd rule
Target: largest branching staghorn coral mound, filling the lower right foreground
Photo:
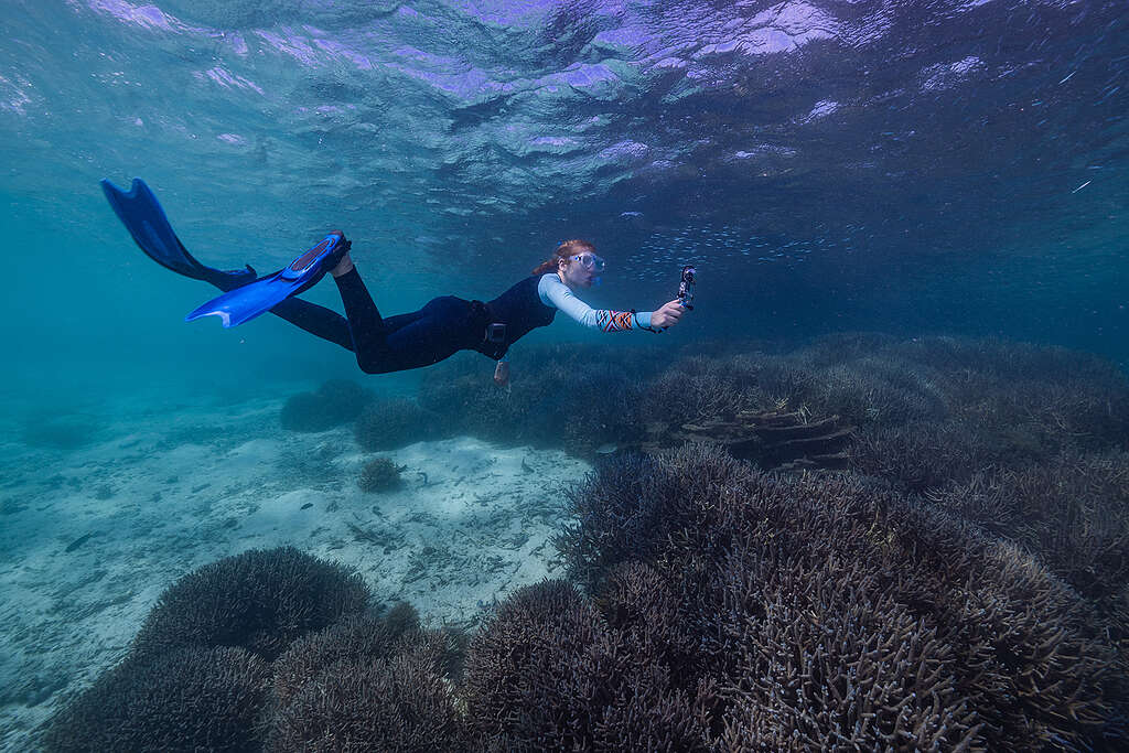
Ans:
{"type": "MultiPolygon", "coordinates": [[[[711,746],[1039,750],[1117,734],[1112,647],[1016,548],[849,476],[765,475],[707,447],[646,474],[614,467],[638,462],[589,480],[562,544],[587,577],[644,558],[677,596],[692,639],[676,645],[695,648],[671,660],[711,746]],[[614,527],[632,504],[671,523],[625,541],[614,527]]],[[[621,623],[614,599],[597,604],[621,623]]]]}

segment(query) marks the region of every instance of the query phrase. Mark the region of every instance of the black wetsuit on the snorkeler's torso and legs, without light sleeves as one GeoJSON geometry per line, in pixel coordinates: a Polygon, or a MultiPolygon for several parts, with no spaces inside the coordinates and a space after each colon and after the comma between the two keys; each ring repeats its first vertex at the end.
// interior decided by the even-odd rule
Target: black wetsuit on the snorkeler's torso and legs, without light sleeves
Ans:
{"type": "Polygon", "coordinates": [[[366,374],[387,374],[438,364],[460,350],[502,358],[518,338],[550,324],[557,314],[541,301],[539,280],[526,278],[489,303],[443,296],[418,312],[384,318],[353,269],[334,278],[345,316],[298,298],[283,300],[271,313],[353,351],[366,374]]]}

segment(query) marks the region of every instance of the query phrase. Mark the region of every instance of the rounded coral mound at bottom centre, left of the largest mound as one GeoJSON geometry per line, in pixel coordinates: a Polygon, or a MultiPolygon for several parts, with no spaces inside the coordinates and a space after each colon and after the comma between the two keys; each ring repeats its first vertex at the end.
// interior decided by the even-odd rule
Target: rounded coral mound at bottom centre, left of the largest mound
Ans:
{"type": "Polygon", "coordinates": [[[706,750],[694,699],[563,581],[498,606],[471,641],[462,691],[488,750],[706,750]]]}

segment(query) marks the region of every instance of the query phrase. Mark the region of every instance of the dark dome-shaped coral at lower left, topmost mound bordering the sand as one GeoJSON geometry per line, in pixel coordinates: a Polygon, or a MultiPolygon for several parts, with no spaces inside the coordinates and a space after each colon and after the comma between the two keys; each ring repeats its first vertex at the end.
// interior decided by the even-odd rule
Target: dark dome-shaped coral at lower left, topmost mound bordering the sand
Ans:
{"type": "Polygon", "coordinates": [[[295,639],[362,612],[361,578],[292,546],[205,564],[169,586],[133,641],[134,654],[239,646],[273,660],[295,639]]]}

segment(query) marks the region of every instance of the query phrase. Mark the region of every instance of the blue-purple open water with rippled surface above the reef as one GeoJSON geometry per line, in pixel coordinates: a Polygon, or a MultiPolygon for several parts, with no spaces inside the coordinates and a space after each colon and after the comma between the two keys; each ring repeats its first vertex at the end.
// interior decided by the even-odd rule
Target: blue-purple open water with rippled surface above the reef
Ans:
{"type": "MultiPolygon", "coordinates": [[[[5,334],[28,366],[54,338],[131,361],[139,338],[227,345],[176,324],[204,294],[146,266],[106,211],[97,180],[134,175],[225,269],[275,269],[341,226],[388,310],[497,295],[576,235],[612,262],[595,304],[654,306],[699,263],[698,331],[679,338],[900,326],[1126,358],[1115,2],[123,0],[5,18],[5,231],[73,270],[50,291],[24,283],[34,264],[11,272],[5,334]]],[[[281,327],[255,340],[341,358],[281,327]]]]}

